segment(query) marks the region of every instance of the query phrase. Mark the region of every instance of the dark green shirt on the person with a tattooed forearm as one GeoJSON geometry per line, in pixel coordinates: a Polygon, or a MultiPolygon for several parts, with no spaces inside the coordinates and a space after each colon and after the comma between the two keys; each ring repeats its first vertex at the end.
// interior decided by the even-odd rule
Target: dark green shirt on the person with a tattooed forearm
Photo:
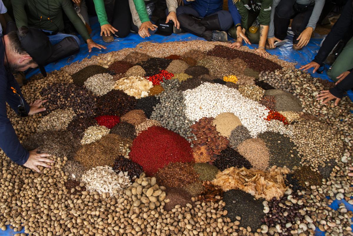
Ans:
{"type": "Polygon", "coordinates": [[[241,26],[245,29],[249,28],[248,22],[249,11],[258,13],[257,20],[261,25],[270,24],[270,14],[272,0],[240,0],[235,6],[237,6],[239,14],[241,16],[241,26]]]}

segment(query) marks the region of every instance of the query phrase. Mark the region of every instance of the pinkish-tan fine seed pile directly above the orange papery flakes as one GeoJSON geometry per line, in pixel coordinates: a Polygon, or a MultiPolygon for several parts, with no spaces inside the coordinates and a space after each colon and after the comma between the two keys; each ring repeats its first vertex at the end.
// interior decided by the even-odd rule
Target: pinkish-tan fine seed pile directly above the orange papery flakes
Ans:
{"type": "Polygon", "coordinates": [[[270,154],[262,139],[246,139],[237,150],[256,169],[267,170],[269,167],[270,154]]]}

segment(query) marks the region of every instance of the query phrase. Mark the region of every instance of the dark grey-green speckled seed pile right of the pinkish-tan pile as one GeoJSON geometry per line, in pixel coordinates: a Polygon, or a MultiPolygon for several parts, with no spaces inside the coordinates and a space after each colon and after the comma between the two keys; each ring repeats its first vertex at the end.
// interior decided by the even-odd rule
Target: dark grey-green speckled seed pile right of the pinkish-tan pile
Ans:
{"type": "Polygon", "coordinates": [[[286,166],[292,169],[300,165],[301,158],[298,156],[297,149],[294,149],[296,146],[290,138],[275,132],[264,132],[259,134],[258,138],[265,142],[270,152],[270,167],[277,165],[277,167],[286,166]]]}

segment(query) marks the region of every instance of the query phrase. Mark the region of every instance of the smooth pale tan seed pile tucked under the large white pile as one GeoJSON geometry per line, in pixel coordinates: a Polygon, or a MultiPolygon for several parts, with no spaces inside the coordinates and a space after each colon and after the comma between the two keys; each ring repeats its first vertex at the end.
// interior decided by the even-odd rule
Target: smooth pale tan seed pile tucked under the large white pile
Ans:
{"type": "Polygon", "coordinates": [[[212,124],[216,126],[216,130],[225,137],[229,137],[233,129],[241,125],[239,118],[234,113],[225,112],[217,115],[212,124]]]}

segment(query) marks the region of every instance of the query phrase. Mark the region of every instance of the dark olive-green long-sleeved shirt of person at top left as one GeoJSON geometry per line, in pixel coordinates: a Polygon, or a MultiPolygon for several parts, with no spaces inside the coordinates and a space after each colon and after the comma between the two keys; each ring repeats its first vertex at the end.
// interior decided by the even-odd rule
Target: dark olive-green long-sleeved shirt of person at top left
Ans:
{"type": "Polygon", "coordinates": [[[12,7],[18,28],[31,26],[42,30],[64,32],[62,19],[62,11],[64,11],[84,41],[91,38],[70,0],[12,0],[12,7]]]}

